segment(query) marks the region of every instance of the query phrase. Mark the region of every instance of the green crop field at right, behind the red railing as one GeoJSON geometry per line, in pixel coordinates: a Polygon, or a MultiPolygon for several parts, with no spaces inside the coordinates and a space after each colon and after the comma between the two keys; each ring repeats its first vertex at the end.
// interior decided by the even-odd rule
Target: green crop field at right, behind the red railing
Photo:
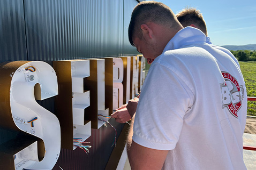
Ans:
{"type": "MultiPolygon", "coordinates": [[[[256,62],[239,61],[244,76],[247,96],[256,97],[256,62]]],[[[256,102],[248,101],[247,115],[256,116],[256,102]]]]}

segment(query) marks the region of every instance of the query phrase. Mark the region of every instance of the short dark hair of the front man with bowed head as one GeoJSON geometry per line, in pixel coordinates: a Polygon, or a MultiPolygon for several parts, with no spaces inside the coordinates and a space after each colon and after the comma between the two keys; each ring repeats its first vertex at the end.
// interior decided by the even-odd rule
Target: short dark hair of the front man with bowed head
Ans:
{"type": "Polygon", "coordinates": [[[134,36],[142,38],[140,26],[147,22],[154,22],[172,28],[181,26],[175,14],[167,5],[155,1],[142,1],[134,7],[128,28],[129,41],[132,46],[135,46],[132,38],[134,36]]]}

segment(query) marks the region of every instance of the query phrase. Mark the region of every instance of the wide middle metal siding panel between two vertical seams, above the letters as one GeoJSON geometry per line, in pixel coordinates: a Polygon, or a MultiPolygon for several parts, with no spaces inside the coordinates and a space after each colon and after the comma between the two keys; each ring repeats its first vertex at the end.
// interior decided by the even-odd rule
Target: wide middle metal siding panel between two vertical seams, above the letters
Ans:
{"type": "Polygon", "coordinates": [[[24,0],[29,60],[123,55],[123,1],[24,0]]]}

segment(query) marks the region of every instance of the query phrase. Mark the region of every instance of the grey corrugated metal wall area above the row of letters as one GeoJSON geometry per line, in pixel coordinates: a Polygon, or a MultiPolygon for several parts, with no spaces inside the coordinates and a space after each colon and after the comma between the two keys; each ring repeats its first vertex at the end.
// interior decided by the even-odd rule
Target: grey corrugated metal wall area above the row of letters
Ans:
{"type": "Polygon", "coordinates": [[[137,54],[127,39],[135,0],[2,0],[0,62],[137,54]]]}

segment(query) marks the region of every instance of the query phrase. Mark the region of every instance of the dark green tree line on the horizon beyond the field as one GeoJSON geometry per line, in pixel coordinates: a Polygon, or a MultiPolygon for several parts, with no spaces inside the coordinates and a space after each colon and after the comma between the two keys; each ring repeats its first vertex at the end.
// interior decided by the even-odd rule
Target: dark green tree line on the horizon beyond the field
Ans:
{"type": "Polygon", "coordinates": [[[238,61],[256,61],[255,50],[230,50],[230,52],[237,58],[238,61]]]}

